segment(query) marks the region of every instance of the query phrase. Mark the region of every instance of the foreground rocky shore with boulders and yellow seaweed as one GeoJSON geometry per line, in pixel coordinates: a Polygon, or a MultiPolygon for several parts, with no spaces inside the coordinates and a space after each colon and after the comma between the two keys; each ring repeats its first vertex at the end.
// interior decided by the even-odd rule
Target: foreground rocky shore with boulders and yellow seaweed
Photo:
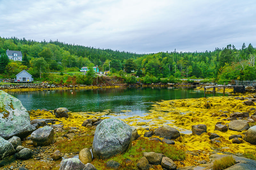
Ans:
{"type": "Polygon", "coordinates": [[[0,169],[210,169],[223,154],[236,160],[229,169],[256,168],[254,94],[160,101],[120,120],[108,110],[26,111],[0,92],[0,169]]]}

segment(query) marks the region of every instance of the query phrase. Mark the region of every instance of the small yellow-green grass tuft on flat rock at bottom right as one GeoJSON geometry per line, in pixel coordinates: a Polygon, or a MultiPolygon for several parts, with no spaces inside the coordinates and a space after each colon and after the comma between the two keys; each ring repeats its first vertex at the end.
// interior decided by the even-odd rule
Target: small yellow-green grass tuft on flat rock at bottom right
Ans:
{"type": "Polygon", "coordinates": [[[226,156],[213,162],[213,170],[222,170],[236,164],[236,160],[232,156],[226,156]]]}

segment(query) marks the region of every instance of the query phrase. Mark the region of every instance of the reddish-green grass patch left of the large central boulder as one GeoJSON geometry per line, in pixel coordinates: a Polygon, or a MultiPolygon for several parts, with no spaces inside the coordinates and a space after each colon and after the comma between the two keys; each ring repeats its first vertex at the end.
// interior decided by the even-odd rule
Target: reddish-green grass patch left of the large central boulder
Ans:
{"type": "MultiPolygon", "coordinates": [[[[89,132],[90,133],[90,132],[89,132]]],[[[56,142],[57,149],[62,153],[80,152],[84,148],[90,148],[92,146],[93,136],[75,136],[73,139],[64,139],[60,142],[56,142]]]]}

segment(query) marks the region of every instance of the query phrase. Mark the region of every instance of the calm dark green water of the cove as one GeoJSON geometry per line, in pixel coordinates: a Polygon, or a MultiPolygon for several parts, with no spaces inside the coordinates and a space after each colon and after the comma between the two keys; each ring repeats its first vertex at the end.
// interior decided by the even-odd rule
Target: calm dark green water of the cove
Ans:
{"type": "MultiPolygon", "coordinates": [[[[53,110],[58,107],[67,107],[72,112],[100,112],[110,109],[118,113],[122,110],[131,110],[127,113],[131,115],[146,113],[151,108],[151,104],[159,100],[204,97],[204,92],[187,87],[120,87],[8,93],[18,98],[27,110],[42,108],[53,110]]],[[[216,93],[216,96],[218,95],[222,94],[216,93]]]]}

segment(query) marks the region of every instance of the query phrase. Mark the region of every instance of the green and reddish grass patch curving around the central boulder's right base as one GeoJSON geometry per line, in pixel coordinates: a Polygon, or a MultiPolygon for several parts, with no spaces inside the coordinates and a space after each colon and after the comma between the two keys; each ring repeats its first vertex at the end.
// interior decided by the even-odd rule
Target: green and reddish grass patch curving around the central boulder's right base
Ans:
{"type": "MultiPolygon", "coordinates": [[[[186,154],[183,150],[176,149],[175,147],[160,143],[156,141],[148,140],[147,138],[140,137],[136,141],[132,142],[132,147],[129,151],[123,155],[118,154],[110,159],[94,159],[92,165],[98,170],[107,170],[106,162],[109,160],[115,160],[121,164],[120,169],[122,170],[137,170],[137,160],[142,158],[143,152],[156,152],[162,153],[172,160],[183,160],[186,158],[186,154]],[[127,161],[130,159],[131,161],[127,161]]],[[[154,166],[154,169],[162,169],[160,166],[154,166]]]]}

